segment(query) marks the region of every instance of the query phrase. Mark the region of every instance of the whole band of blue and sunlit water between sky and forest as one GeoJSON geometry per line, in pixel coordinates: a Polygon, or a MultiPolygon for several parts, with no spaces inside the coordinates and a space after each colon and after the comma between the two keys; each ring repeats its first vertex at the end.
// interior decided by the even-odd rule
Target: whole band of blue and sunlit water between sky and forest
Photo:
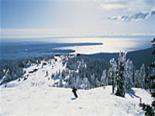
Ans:
{"type": "Polygon", "coordinates": [[[1,39],[0,60],[27,59],[53,54],[134,51],[151,47],[151,36],[68,37],[36,39],[1,39]],[[32,41],[33,40],[33,41],[32,41]]]}

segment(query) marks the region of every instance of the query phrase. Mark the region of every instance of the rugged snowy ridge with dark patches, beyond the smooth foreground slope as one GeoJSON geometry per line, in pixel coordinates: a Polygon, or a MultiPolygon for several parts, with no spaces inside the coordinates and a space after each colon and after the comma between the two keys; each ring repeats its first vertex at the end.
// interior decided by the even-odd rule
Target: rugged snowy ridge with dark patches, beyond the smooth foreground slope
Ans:
{"type": "Polygon", "coordinates": [[[52,86],[54,80],[52,75],[64,70],[63,56],[55,56],[54,59],[47,61],[42,60],[39,64],[31,64],[30,67],[23,69],[25,74],[14,81],[1,85],[1,87],[15,87],[15,86],[52,86]]]}

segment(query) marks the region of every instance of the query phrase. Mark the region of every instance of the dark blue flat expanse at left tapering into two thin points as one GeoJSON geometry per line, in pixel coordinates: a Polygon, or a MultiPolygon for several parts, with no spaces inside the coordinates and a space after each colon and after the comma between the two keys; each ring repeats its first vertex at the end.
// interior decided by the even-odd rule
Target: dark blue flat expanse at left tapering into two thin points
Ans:
{"type": "Polygon", "coordinates": [[[59,49],[71,46],[100,45],[101,43],[56,43],[47,41],[6,41],[0,42],[0,61],[28,59],[55,54],[69,54],[75,52],[72,49],[59,49]]]}

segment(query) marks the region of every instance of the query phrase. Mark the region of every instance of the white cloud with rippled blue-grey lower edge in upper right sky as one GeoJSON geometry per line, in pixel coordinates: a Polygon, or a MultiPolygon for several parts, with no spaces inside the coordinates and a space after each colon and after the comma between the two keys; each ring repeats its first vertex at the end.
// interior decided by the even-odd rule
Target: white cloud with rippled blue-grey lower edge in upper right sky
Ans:
{"type": "MultiPolygon", "coordinates": [[[[119,21],[138,21],[154,15],[155,1],[151,0],[99,0],[108,19],[119,21]]],[[[97,1],[96,1],[97,2],[97,1]]]]}

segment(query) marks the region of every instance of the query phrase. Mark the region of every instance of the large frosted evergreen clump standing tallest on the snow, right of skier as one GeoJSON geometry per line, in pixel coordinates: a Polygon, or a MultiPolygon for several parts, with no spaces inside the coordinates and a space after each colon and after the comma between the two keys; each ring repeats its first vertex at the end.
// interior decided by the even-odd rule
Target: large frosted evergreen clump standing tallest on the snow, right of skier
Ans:
{"type": "Polygon", "coordinates": [[[124,97],[125,92],[134,86],[133,73],[133,63],[129,59],[126,60],[126,53],[120,52],[117,61],[111,59],[108,75],[111,79],[112,93],[124,97]]]}

